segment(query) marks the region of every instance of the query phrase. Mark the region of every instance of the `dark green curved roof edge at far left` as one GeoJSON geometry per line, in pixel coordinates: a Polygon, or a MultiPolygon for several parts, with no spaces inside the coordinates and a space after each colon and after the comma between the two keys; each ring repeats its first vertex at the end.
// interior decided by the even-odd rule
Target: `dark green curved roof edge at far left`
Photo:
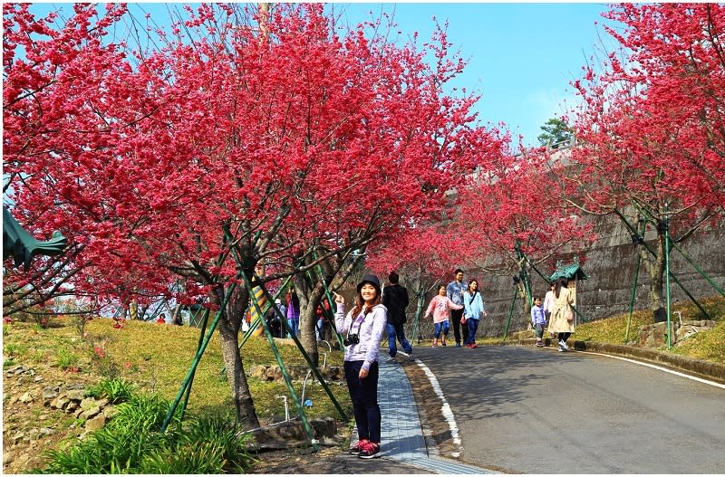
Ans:
{"type": "Polygon", "coordinates": [[[63,253],[66,238],[60,232],[53,232],[53,238],[47,241],[35,240],[28,234],[14,216],[3,206],[3,261],[13,257],[15,266],[24,264],[24,270],[30,268],[35,255],[58,255],[63,253]]]}

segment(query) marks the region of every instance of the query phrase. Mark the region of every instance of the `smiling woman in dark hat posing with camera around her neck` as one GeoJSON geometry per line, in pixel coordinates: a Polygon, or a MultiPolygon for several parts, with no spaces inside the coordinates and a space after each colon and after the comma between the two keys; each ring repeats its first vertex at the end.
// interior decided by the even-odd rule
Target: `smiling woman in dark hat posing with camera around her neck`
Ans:
{"type": "Polygon", "coordinates": [[[359,438],[350,453],[362,459],[380,457],[382,415],[378,405],[378,350],[387,325],[381,294],[378,277],[365,275],[357,285],[355,306],[345,315],[343,296],[333,293],[337,304],[334,324],[345,336],[345,380],[359,438]]]}

